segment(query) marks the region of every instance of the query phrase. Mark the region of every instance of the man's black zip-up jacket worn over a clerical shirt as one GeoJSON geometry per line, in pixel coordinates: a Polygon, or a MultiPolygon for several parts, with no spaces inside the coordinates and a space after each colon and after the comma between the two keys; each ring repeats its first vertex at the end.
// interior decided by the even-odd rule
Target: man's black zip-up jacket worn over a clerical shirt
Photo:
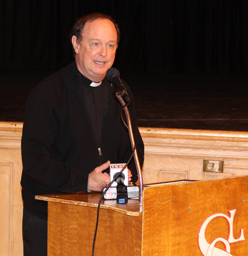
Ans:
{"type": "MultiPolygon", "coordinates": [[[[21,178],[24,207],[46,219],[47,202],[35,195],[87,191],[88,174],[107,162],[126,163],[131,155],[127,129],[121,121],[121,104],[110,93],[98,145],[83,102],[80,73],[75,63],[37,85],[27,100],[22,133],[21,178]],[[98,148],[101,148],[102,156],[98,148]]],[[[138,131],[133,96],[128,106],[140,165],[144,145],[138,131]]],[[[134,161],[128,166],[137,180],[134,161]]]]}

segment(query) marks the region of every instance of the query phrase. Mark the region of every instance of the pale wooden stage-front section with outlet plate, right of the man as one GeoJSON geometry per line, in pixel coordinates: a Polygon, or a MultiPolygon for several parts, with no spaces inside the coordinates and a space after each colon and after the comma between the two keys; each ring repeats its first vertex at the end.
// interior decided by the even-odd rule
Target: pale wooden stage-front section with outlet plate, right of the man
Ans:
{"type": "Polygon", "coordinates": [[[139,128],[145,145],[144,183],[173,178],[207,180],[248,174],[248,133],[139,128]],[[203,161],[223,161],[223,173],[203,172],[203,161]]]}

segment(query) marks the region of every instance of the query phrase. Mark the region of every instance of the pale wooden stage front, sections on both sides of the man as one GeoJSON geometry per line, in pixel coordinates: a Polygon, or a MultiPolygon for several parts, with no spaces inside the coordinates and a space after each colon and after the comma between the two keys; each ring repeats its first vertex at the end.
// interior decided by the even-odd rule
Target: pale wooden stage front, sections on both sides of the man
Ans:
{"type": "MultiPolygon", "coordinates": [[[[186,177],[207,180],[248,174],[246,132],[165,128],[139,130],[145,144],[145,183],[186,177]],[[203,172],[203,160],[223,160],[224,172],[203,172]]],[[[0,175],[4,175],[0,180],[1,195],[3,193],[0,204],[7,204],[0,207],[0,216],[2,220],[11,219],[9,222],[3,221],[2,234],[6,236],[0,237],[0,248],[5,248],[11,256],[22,256],[21,134],[22,123],[0,122],[0,175]],[[8,191],[9,187],[11,192],[8,191]]],[[[3,250],[0,250],[0,256],[5,256],[3,250]]]]}

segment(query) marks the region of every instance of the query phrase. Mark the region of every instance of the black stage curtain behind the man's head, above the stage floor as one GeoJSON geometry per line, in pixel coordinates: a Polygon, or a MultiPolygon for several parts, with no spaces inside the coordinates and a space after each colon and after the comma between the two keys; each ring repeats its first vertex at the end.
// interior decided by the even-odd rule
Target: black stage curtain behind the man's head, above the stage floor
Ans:
{"type": "Polygon", "coordinates": [[[248,74],[248,0],[2,0],[0,69],[64,67],[71,26],[91,12],[119,23],[122,71],[248,74]]]}

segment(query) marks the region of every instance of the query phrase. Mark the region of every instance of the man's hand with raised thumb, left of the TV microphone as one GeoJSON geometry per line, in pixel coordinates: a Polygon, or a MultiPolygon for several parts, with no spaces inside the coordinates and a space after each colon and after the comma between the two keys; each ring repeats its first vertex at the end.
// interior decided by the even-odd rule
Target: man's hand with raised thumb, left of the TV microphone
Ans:
{"type": "Polygon", "coordinates": [[[110,183],[110,175],[107,172],[102,173],[110,166],[110,161],[105,164],[96,167],[89,174],[88,190],[102,191],[107,184],[110,183]]]}

